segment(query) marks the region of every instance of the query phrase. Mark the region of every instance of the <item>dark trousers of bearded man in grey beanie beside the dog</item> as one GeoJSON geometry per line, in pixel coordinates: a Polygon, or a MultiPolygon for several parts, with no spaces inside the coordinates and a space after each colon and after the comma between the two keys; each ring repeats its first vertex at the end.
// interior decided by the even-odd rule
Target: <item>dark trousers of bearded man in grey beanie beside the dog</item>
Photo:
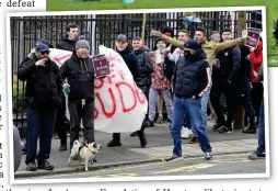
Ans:
{"type": "Polygon", "coordinates": [[[88,143],[94,142],[94,100],[86,100],[82,105],[82,100],[69,101],[70,113],[70,149],[76,139],[79,139],[81,120],[83,122],[84,138],[88,143]]]}

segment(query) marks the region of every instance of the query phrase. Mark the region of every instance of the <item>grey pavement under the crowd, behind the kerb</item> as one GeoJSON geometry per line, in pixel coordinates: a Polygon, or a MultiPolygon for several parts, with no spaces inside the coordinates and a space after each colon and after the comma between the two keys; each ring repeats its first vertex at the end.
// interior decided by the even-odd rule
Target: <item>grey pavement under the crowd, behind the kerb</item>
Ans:
{"type": "MultiPolygon", "coordinates": [[[[103,146],[103,149],[97,154],[97,162],[92,164],[90,169],[104,169],[118,167],[123,165],[136,165],[144,162],[162,161],[163,158],[170,157],[173,149],[173,141],[171,137],[169,124],[164,123],[146,130],[148,146],[140,147],[138,137],[130,137],[129,134],[121,134],[121,147],[109,148],[107,143],[112,138],[112,134],[96,132],[95,138],[103,146]]],[[[208,134],[211,141],[213,155],[251,153],[256,148],[257,135],[243,134],[236,130],[232,134],[219,134],[212,132],[212,122],[208,122],[208,134]]],[[[183,155],[185,158],[202,156],[198,144],[187,144],[188,139],[183,141],[183,155]]],[[[79,161],[67,164],[69,150],[59,151],[59,141],[53,141],[53,150],[49,161],[55,166],[53,171],[37,170],[30,172],[25,170],[25,156],[22,157],[22,164],[15,172],[15,179],[26,177],[37,177],[55,173],[68,173],[84,171],[84,167],[79,161]]]]}

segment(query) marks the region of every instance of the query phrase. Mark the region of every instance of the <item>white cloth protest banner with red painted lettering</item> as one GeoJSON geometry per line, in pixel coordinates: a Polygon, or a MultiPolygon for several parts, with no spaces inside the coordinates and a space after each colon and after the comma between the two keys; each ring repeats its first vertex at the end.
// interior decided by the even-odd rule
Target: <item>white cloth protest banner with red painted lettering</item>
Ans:
{"type": "MultiPolygon", "coordinates": [[[[148,110],[143,92],[136,86],[134,77],[121,56],[114,49],[100,46],[100,54],[109,59],[111,75],[95,78],[95,130],[106,133],[124,133],[140,130],[148,110]]],[[[59,67],[71,56],[71,52],[50,48],[49,57],[59,67]]]]}

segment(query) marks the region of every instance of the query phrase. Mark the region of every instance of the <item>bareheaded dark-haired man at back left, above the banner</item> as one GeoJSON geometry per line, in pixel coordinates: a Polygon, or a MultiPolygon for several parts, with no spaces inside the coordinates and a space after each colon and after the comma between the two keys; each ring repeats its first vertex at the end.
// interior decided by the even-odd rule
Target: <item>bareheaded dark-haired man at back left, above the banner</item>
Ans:
{"type": "Polygon", "coordinates": [[[58,49],[65,49],[72,52],[79,36],[79,26],[76,23],[70,23],[66,26],[66,37],[62,38],[58,44],[58,49]]]}

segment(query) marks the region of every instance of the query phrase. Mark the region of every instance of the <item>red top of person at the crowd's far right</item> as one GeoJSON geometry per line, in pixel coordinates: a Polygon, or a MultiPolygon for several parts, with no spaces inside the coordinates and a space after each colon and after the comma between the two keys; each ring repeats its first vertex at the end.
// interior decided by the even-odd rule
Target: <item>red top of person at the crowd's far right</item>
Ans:
{"type": "Polygon", "coordinates": [[[252,75],[251,80],[252,82],[259,82],[254,74],[259,72],[260,65],[263,63],[263,42],[262,41],[258,42],[257,49],[255,49],[255,52],[250,53],[250,61],[251,61],[251,75],[252,75]]]}

